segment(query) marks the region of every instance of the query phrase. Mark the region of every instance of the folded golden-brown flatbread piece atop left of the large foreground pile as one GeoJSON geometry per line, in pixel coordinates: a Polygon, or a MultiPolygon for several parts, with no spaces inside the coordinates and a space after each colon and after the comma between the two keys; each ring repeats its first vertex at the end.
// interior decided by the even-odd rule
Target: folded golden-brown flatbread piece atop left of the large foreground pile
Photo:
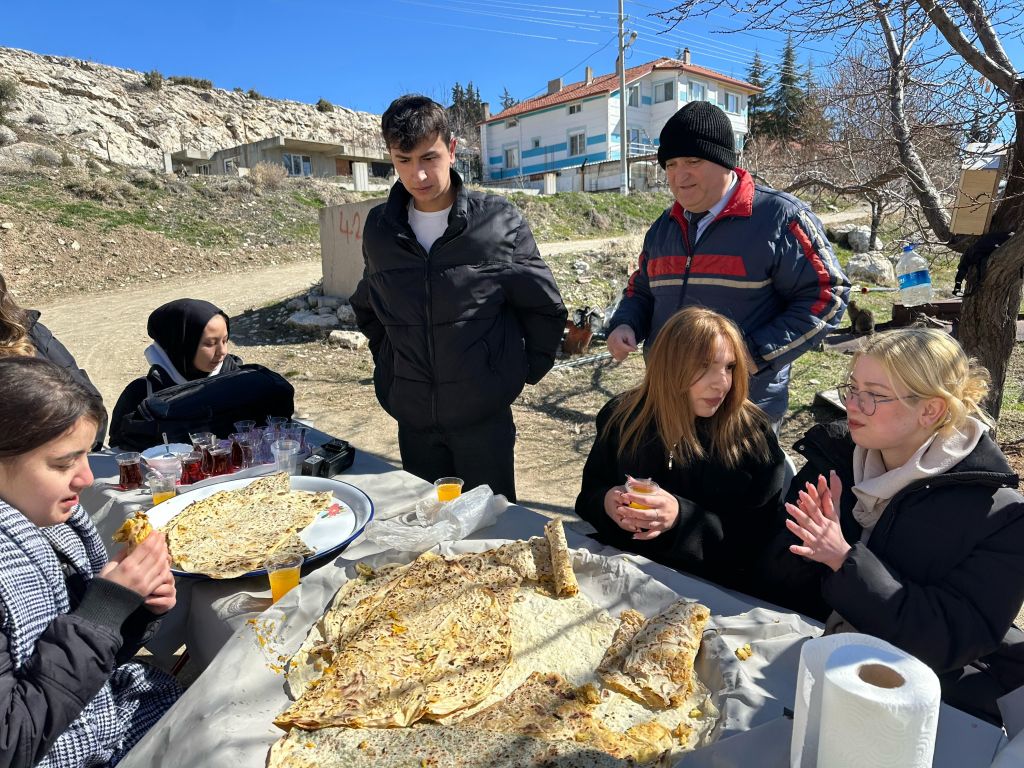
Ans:
{"type": "Polygon", "coordinates": [[[386,587],[344,617],[331,663],[279,726],[408,726],[470,707],[494,688],[511,655],[514,586],[481,584],[433,556],[386,587]]]}

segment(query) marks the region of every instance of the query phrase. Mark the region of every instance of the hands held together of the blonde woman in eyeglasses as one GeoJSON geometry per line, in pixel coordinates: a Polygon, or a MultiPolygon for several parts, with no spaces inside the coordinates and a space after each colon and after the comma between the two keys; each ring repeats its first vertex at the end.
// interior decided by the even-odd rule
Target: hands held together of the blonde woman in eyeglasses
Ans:
{"type": "Polygon", "coordinates": [[[842,493],[843,483],[833,471],[828,482],[824,475],[818,475],[817,485],[806,483],[796,505],[786,503],[785,511],[792,519],[785,521],[785,526],[803,542],[790,547],[793,554],[840,569],[851,549],[839,524],[842,493]]]}

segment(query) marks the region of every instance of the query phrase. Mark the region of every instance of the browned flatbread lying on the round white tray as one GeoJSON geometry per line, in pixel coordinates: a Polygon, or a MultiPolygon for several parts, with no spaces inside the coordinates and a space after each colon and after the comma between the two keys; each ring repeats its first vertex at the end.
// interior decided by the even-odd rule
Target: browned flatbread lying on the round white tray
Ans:
{"type": "Polygon", "coordinates": [[[329,490],[292,490],[287,472],[194,502],[164,526],[175,567],[233,579],[276,551],[306,555],[298,534],[331,506],[329,490]]]}

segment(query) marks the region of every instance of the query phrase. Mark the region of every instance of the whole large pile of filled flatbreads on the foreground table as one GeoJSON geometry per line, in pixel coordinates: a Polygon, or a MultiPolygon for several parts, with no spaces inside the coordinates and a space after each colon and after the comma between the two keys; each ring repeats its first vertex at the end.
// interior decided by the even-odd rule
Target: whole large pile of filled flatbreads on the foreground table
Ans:
{"type": "Polygon", "coordinates": [[[714,723],[693,674],[708,609],[624,616],[580,592],[560,522],[480,553],[361,566],[288,663],[295,700],[268,768],[669,764],[714,723]],[[680,617],[686,630],[666,632],[680,617]]]}

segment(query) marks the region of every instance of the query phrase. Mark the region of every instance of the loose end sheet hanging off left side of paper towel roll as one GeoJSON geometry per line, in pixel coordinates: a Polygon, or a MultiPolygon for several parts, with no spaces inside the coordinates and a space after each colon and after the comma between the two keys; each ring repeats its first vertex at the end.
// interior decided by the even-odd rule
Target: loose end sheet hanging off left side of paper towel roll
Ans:
{"type": "Polygon", "coordinates": [[[821,693],[825,663],[828,656],[847,645],[901,651],[885,640],[855,632],[828,635],[808,640],[800,649],[800,667],[797,672],[797,698],[793,708],[793,740],[790,742],[792,768],[814,768],[818,757],[818,732],[821,718],[821,693]]]}

